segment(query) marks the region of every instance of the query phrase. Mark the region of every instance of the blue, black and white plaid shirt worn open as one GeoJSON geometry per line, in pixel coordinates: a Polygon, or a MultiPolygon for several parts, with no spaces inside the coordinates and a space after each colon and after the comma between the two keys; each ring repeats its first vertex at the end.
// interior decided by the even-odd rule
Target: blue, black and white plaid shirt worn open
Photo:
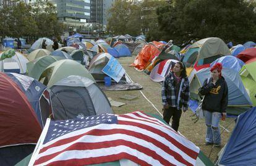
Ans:
{"type": "Polygon", "coordinates": [[[179,96],[175,95],[176,86],[174,85],[173,72],[169,73],[163,81],[162,86],[162,101],[165,106],[168,104],[171,107],[177,107],[177,109],[187,110],[189,107],[189,80],[182,78],[182,85],[179,89],[179,96]],[[179,100],[179,101],[178,101],[179,100]],[[179,106],[178,106],[179,103],[179,106]]]}

